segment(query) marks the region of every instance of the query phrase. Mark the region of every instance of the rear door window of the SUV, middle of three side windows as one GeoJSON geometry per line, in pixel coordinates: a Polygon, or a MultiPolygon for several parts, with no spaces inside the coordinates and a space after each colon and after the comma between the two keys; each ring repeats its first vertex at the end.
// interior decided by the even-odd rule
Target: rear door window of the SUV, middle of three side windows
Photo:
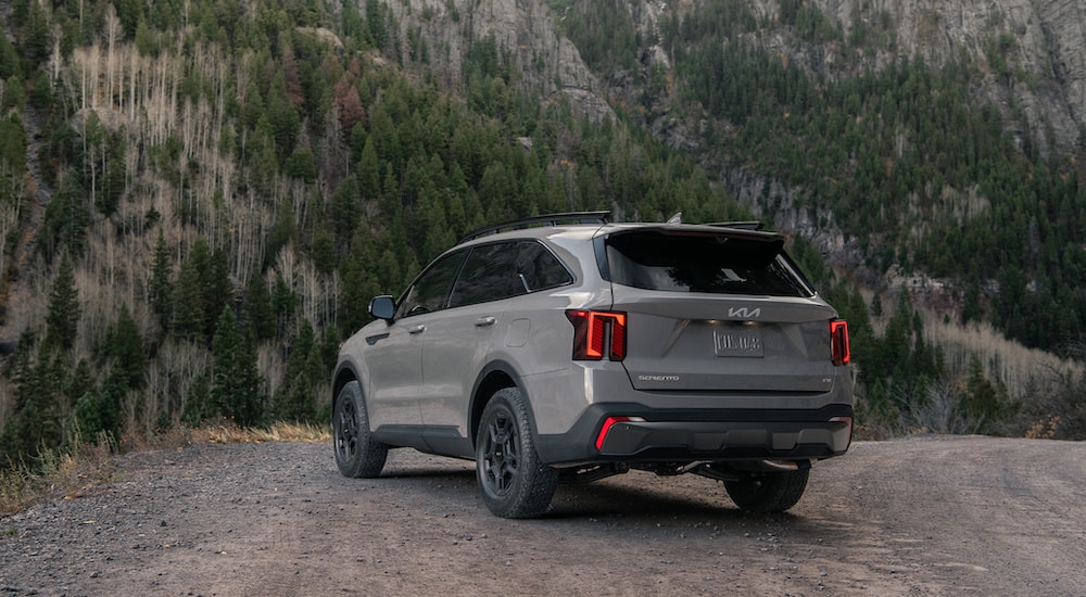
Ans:
{"type": "Polygon", "coordinates": [[[523,294],[517,277],[517,244],[502,242],[476,246],[453,287],[450,307],[475,305],[523,294]]]}

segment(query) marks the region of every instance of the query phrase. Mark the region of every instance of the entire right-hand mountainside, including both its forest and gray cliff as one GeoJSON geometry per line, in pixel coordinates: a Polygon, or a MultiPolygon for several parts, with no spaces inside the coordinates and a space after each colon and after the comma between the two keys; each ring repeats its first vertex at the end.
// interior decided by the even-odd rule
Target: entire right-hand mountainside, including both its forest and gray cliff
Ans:
{"type": "Polygon", "coordinates": [[[875,419],[1081,428],[1086,2],[552,4],[620,114],[863,289],[875,419]]]}

